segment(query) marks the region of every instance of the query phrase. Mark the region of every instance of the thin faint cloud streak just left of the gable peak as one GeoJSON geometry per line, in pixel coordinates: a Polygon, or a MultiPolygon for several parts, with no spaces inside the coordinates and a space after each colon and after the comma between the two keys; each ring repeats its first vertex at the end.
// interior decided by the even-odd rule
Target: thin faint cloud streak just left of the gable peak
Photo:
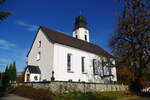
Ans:
{"type": "Polygon", "coordinates": [[[38,25],[27,24],[20,20],[17,20],[16,24],[25,27],[28,31],[36,31],[38,29],[38,25]]]}

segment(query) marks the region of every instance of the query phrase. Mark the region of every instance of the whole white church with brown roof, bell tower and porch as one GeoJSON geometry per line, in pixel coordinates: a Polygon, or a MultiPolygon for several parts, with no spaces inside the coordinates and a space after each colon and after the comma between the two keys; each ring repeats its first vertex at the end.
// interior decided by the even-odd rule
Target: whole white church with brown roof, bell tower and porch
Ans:
{"type": "Polygon", "coordinates": [[[24,82],[116,82],[113,56],[90,43],[89,34],[84,16],[76,17],[72,36],[40,26],[27,54],[24,82]]]}

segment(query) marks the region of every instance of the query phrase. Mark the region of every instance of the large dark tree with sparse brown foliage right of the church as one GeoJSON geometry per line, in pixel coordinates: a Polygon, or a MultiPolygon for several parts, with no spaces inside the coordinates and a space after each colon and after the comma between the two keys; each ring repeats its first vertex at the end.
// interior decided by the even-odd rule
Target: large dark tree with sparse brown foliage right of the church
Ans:
{"type": "Polygon", "coordinates": [[[117,62],[127,62],[133,73],[131,90],[139,92],[140,79],[150,63],[150,1],[121,1],[123,1],[124,9],[118,18],[117,29],[110,41],[110,48],[117,62]]]}

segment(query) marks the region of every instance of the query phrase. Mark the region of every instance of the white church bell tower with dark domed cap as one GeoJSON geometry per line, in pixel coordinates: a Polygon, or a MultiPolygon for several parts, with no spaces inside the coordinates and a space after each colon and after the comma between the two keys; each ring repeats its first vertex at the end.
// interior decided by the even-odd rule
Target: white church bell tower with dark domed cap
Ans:
{"type": "Polygon", "coordinates": [[[89,30],[84,16],[76,17],[73,29],[73,37],[90,42],[89,30]]]}

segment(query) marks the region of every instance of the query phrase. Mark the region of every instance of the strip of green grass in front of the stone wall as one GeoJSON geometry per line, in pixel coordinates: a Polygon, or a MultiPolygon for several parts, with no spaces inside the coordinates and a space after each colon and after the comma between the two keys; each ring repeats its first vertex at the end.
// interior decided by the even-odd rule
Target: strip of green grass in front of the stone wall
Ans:
{"type": "Polygon", "coordinates": [[[127,92],[72,92],[57,94],[55,100],[116,100],[118,98],[130,97],[127,92]]]}

